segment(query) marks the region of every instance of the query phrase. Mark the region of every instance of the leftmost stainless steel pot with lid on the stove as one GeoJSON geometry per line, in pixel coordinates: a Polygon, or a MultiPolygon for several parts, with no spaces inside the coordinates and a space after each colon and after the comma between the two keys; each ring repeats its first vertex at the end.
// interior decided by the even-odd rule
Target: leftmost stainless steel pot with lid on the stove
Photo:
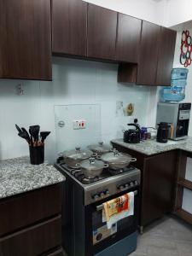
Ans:
{"type": "Polygon", "coordinates": [[[63,152],[64,161],[71,168],[77,168],[76,164],[82,160],[89,159],[91,156],[96,156],[96,154],[93,154],[90,150],[82,150],[81,148],[63,152]]]}

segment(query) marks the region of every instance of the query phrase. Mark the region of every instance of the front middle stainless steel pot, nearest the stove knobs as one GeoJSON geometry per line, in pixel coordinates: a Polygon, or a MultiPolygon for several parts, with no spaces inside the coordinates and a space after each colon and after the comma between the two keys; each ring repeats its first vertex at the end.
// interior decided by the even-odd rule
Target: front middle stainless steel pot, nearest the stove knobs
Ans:
{"type": "Polygon", "coordinates": [[[95,158],[90,158],[88,160],[83,160],[76,164],[80,167],[86,176],[96,177],[102,173],[104,168],[108,168],[108,164],[105,164],[102,160],[96,160],[95,158]]]}

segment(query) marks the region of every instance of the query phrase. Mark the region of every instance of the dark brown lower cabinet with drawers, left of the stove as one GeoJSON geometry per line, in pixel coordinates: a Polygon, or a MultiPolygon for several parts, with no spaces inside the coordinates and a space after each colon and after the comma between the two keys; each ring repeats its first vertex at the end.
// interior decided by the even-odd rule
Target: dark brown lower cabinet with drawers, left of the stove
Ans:
{"type": "Polygon", "coordinates": [[[62,256],[63,183],[0,201],[0,256],[62,256]]]}

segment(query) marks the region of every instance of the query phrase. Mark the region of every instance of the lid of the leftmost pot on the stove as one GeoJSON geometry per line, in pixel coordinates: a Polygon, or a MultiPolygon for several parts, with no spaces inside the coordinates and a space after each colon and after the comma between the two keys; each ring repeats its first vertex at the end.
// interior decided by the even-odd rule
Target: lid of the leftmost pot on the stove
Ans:
{"type": "Polygon", "coordinates": [[[84,160],[90,158],[93,153],[90,150],[82,150],[81,148],[75,148],[73,150],[63,152],[64,157],[72,160],[84,160]]]}

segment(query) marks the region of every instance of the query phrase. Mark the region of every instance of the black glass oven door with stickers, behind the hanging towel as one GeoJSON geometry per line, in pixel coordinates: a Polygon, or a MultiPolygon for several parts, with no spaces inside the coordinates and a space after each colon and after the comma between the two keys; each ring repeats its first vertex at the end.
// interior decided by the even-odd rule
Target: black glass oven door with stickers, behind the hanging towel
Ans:
{"type": "Polygon", "coordinates": [[[97,203],[85,207],[85,255],[94,255],[101,252],[106,247],[111,246],[137,230],[139,212],[139,188],[127,189],[119,194],[108,197],[97,203]],[[134,214],[119,220],[108,230],[107,223],[102,222],[102,203],[112,200],[120,195],[125,195],[131,191],[134,196],[134,214]]]}

